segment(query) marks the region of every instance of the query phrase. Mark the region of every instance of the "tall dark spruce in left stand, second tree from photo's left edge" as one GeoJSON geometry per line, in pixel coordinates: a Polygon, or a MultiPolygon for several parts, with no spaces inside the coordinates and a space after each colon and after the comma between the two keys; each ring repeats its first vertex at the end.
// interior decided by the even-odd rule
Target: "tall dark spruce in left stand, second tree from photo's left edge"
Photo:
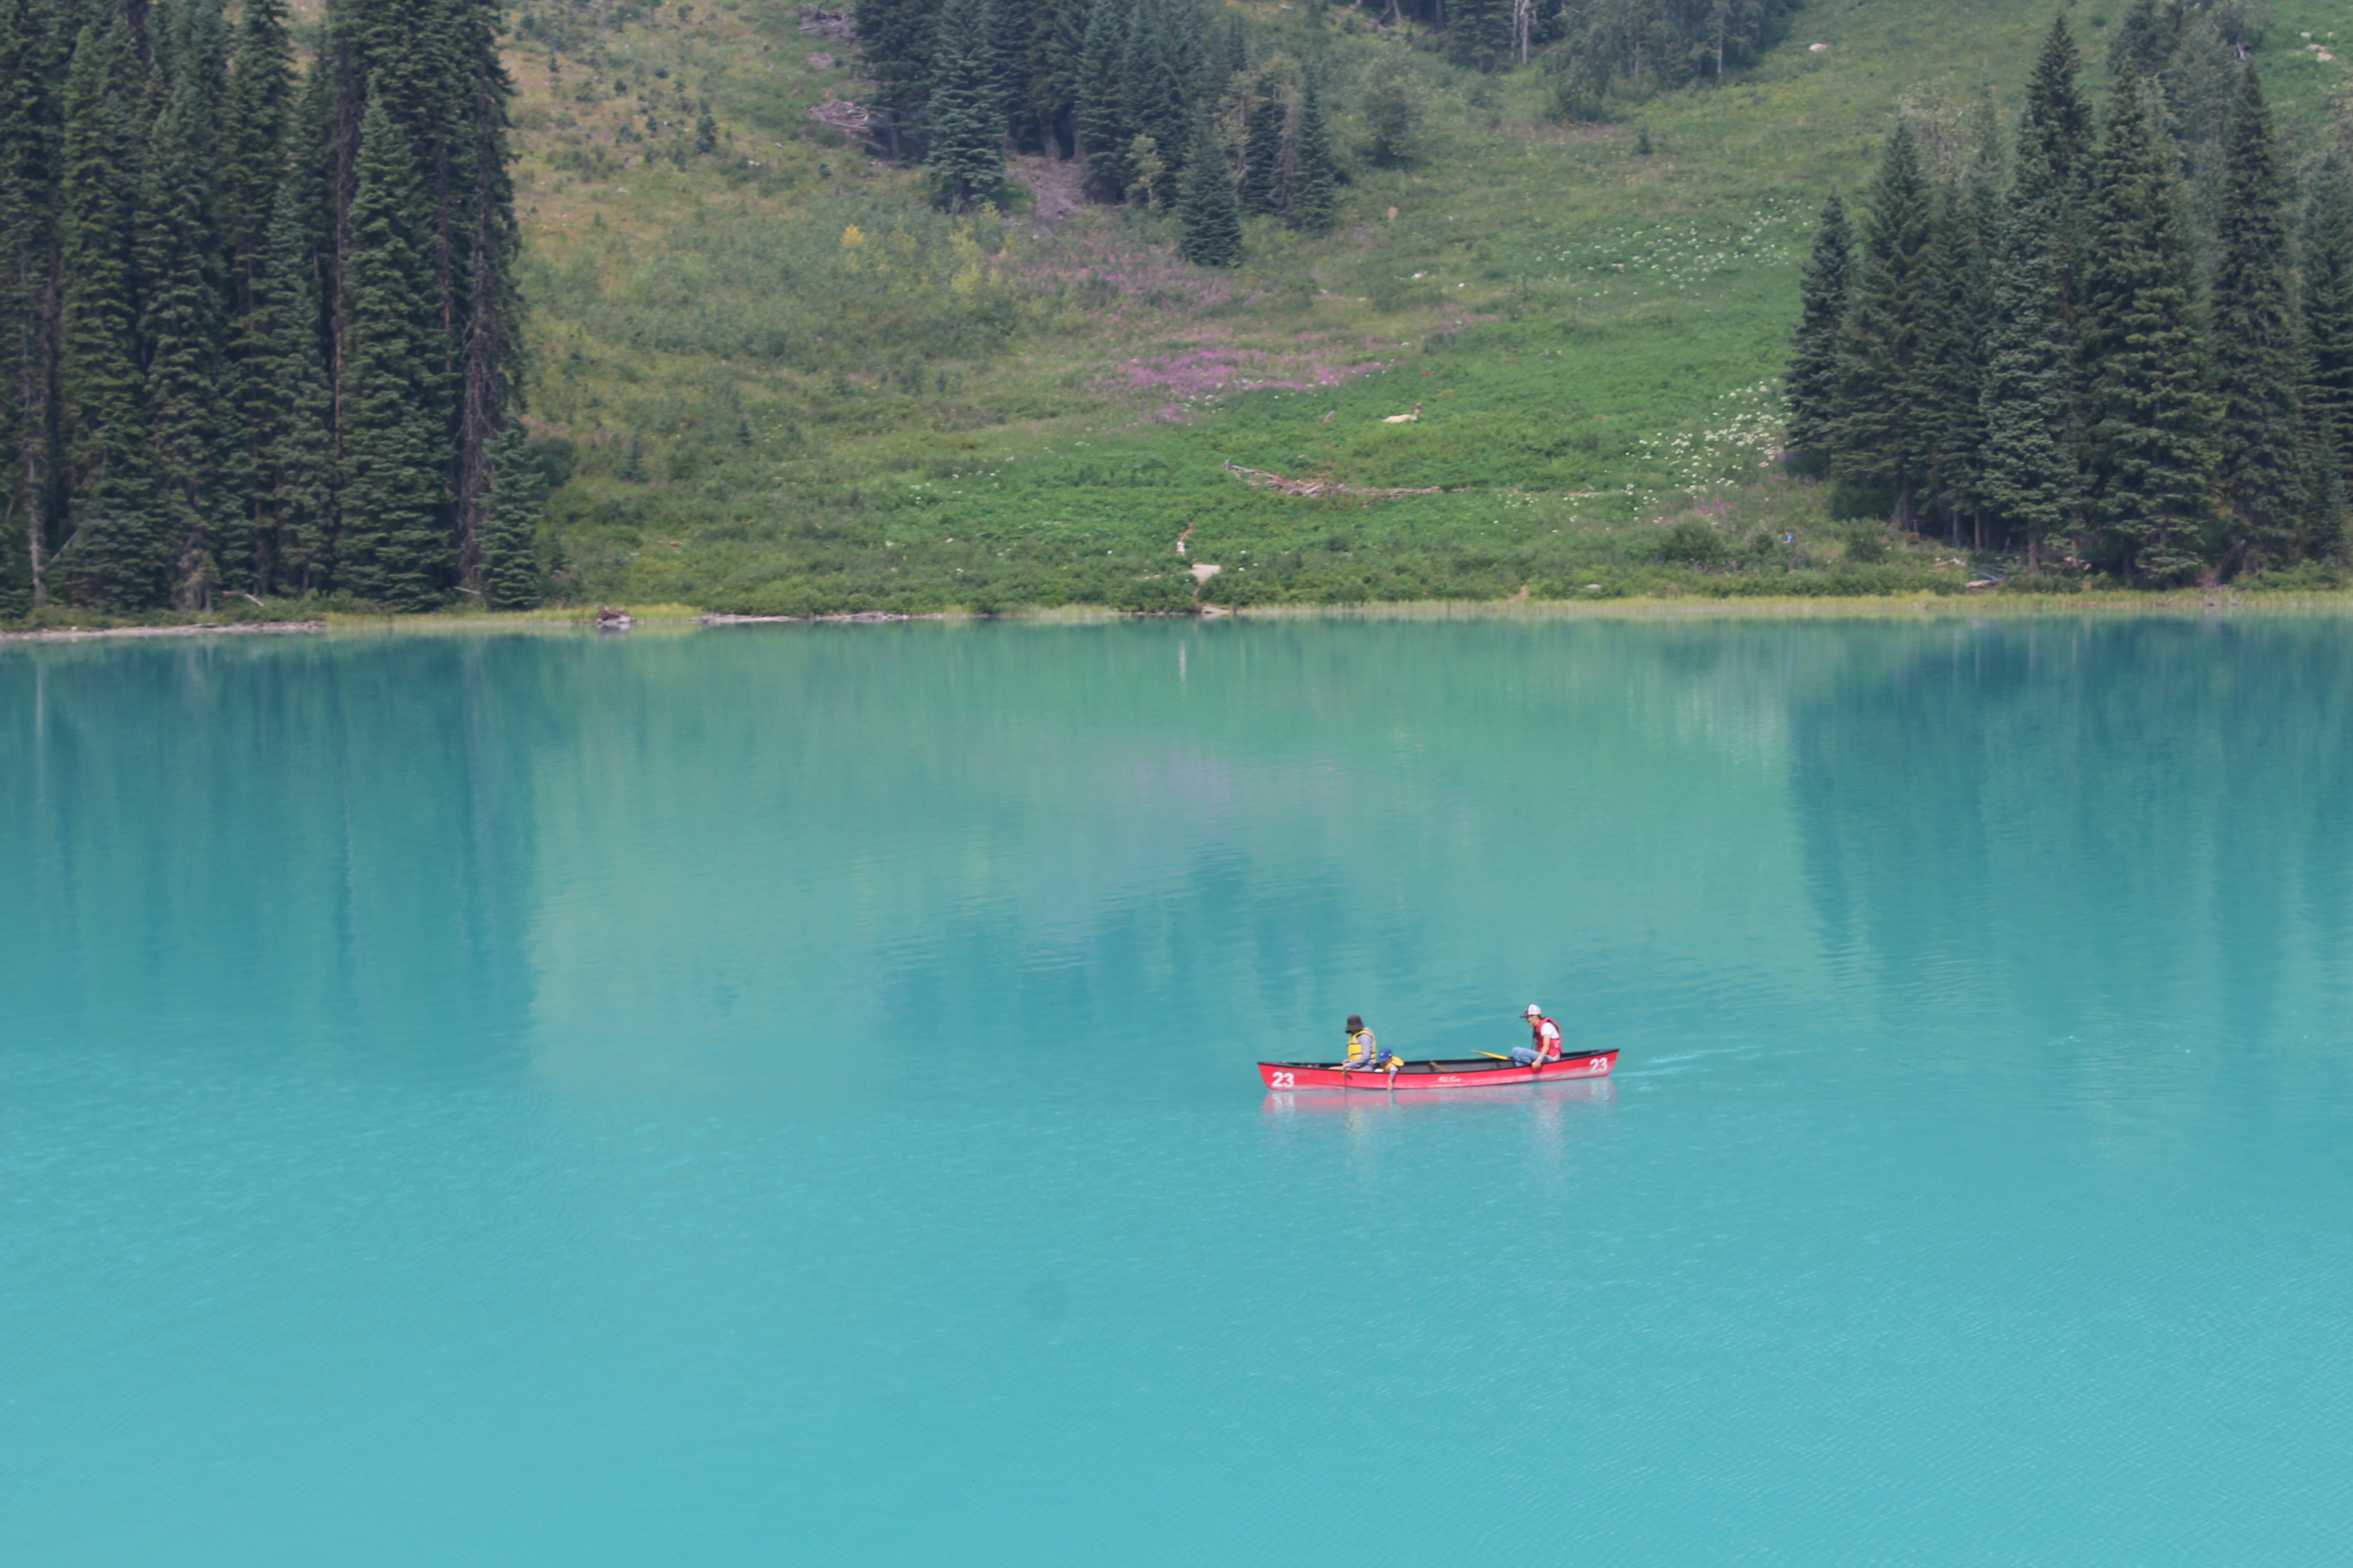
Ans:
{"type": "Polygon", "coordinates": [[[66,75],[59,188],[59,421],[71,534],[59,555],[80,595],[104,609],[162,597],[162,562],[146,508],[146,430],[139,418],[132,214],[141,143],[132,94],[141,66],[129,26],[82,28],[66,75]]]}

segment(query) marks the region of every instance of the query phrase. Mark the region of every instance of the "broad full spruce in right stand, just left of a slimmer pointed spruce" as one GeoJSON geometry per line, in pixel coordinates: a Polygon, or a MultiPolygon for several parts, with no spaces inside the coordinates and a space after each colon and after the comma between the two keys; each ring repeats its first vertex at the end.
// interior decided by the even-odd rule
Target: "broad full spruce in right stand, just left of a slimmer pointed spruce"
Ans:
{"type": "Polygon", "coordinates": [[[2134,583],[2198,571],[2214,418],[2172,143],[2127,63],[2092,165],[2082,277],[2089,520],[2134,583]]]}

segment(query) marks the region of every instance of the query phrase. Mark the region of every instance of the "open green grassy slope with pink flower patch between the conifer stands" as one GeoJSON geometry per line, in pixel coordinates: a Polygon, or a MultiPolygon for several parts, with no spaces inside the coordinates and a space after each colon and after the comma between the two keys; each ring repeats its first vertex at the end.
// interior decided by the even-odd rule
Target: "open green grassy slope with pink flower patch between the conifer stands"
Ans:
{"type": "MultiPolygon", "coordinates": [[[[1412,49],[1242,9],[1325,59],[1344,110],[1412,49]]],[[[2094,61],[2120,12],[2071,7],[2094,61]]],[[[555,592],[812,614],[1958,585],[1962,555],[1880,559],[1772,473],[1777,376],[1824,190],[1866,183],[1904,101],[1991,92],[2007,120],[2049,14],[1826,0],[1751,75],[1607,127],[1555,125],[1541,71],[1414,54],[1421,158],[1369,167],[1341,118],[1341,226],[1252,221],[1247,263],[1209,273],[1169,219],[1073,209],[1038,160],[1005,214],[932,212],[807,115],[859,80],[798,9],[527,5],[555,592]]],[[[2259,59],[2294,136],[2346,71],[2299,33],[2339,19],[2275,7],[2259,59]]]]}

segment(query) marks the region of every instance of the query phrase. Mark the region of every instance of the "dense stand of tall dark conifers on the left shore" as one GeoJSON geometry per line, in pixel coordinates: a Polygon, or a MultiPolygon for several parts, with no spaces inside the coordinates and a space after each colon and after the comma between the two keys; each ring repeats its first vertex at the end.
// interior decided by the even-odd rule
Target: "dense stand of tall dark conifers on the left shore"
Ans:
{"type": "Polygon", "coordinates": [[[489,0],[0,0],[9,611],[536,597],[489,0]]]}

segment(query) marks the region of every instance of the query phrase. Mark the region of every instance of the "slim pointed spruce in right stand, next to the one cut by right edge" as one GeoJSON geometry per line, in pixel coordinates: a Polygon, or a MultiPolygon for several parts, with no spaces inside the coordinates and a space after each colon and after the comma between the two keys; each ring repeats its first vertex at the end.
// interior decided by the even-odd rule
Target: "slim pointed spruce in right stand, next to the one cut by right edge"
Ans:
{"type": "Polygon", "coordinates": [[[2299,552],[2308,489],[2287,195],[2254,66],[2231,118],[2226,172],[2212,292],[2214,393],[2228,433],[2217,475],[2231,512],[2224,559],[2261,571],[2299,552]]]}

